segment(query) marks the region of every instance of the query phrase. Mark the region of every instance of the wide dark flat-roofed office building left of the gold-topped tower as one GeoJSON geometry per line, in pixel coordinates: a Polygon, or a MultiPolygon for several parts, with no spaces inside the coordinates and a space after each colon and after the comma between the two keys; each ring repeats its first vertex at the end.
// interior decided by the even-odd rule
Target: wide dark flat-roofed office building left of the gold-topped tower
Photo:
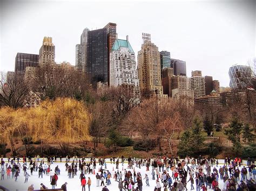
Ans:
{"type": "Polygon", "coordinates": [[[15,74],[25,75],[26,67],[38,66],[38,54],[17,53],[15,58],[15,74]]]}

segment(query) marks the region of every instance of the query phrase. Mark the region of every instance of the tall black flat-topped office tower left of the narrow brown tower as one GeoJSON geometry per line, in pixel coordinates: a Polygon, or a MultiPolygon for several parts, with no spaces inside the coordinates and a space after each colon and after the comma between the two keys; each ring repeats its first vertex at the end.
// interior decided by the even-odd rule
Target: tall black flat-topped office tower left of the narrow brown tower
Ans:
{"type": "Polygon", "coordinates": [[[86,73],[91,83],[107,84],[107,29],[88,31],[86,73]]]}

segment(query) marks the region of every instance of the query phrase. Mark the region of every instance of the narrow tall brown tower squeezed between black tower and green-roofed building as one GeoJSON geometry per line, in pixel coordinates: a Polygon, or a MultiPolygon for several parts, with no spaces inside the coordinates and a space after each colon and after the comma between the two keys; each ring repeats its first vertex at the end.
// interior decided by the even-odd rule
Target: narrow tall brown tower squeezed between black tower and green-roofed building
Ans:
{"type": "MultiPolygon", "coordinates": [[[[107,30],[107,71],[110,71],[110,52],[113,47],[114,41],[116,40],[117,24],[108,23],[104,29],[107,30]]],[[[107,86],[110,83],[110,73],[107,73],[107,86]]]]}

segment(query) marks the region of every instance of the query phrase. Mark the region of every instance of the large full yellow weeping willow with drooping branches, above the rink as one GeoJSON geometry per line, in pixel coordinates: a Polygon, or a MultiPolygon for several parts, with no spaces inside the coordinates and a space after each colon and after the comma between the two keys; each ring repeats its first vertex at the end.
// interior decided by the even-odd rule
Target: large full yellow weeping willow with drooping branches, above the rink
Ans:
{"type": "Polygon", "coordinates": [[[83,102],[71,98],[57,98],[55,101],[42,102],[36,109],[45,111],[39,137],[48,143],[59,144],[63,154],[68,154],[71,143],[90,139],[91,115],[83,102]]]}

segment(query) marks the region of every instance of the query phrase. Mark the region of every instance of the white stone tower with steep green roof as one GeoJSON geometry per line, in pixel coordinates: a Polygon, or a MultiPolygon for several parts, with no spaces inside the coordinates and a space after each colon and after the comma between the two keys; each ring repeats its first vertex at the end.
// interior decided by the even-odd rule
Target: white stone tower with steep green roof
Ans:
{"type": "Polygon", "coordinates": [[[110,52],[110,86],[124,84],[139,89],[138,69],[128,36],[126,40],[116,38],[110,52]]]}

